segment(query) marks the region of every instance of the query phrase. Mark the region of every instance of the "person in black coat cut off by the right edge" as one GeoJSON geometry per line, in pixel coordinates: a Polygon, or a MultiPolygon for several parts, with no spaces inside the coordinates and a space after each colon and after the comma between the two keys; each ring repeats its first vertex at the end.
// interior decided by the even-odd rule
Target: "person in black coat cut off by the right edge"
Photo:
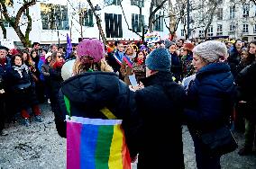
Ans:
{"type": "Polygon", "coordinates": [[[249,44],[249,54],[254,58],[251,66],[245,67],[236,77],[236,84],[239,86],[240,100],[243,106],[245,119],[244,145],[239,150],[240,156],[247,156],[252,153],[253,141],[256,144],[256,40],[249,44]]]}

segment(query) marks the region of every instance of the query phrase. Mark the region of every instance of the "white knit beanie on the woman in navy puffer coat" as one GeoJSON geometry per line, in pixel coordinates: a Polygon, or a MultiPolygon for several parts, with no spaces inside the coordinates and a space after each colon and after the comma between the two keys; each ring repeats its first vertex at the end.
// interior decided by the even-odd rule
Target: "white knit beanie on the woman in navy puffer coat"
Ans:
{"type": "Polygon", "coordinates": [[[192,51],[199,57],[204,58],[208,63],[215,62],[219,58],[225,58],[227,55],[227,49],[224,43],[216,40],[208,40],[200,43],[192,51]]]}

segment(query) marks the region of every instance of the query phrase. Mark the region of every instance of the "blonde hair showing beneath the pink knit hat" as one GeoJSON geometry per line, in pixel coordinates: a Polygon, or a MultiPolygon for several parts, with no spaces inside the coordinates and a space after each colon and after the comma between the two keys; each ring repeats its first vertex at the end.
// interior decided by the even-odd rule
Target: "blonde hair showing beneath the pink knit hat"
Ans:
{"type": "Polygon", "coordinates": [[[105,58],[102,58],[99,62],[94,62],[94,59],[91,57],[76,59],[73,66],[74,76],[90,71],[114,72],[113,68],[105,61],[105,58]]]}

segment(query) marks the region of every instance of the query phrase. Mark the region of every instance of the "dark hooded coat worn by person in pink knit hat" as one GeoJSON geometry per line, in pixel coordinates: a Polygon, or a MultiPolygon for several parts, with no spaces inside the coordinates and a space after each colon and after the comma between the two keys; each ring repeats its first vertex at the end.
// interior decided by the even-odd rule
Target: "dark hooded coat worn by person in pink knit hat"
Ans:
{"type": "Polygon", "coordinates": [[[114,73],[88,72],[64,81],[59,90],[59,112],[55,113],[59,136],[66,138],[64,95],[69,98],[71,116],[107,119],[100,111],[106,107],[123,120],[122,127],[131,156],[135,156],[135,138],[140,122],[136,118],[133,93],[114,73]]]}

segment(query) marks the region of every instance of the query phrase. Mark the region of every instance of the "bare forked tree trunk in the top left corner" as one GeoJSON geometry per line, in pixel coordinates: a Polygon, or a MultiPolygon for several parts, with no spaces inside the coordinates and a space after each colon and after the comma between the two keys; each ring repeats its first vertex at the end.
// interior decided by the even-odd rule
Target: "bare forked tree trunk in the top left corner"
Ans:
{"type": "Polygon", "coordinates": [[[26,1],[23,0],[23,5],[20,7],[18,12],[16,13],[15,17],[12,17],[9,15],[7,11],[7,7],[5,4],[5,0],[0,0],[0,4],[2,6],[1,11],[5,16],[5,21],[9,22],[9,24],[14,28],[14,31],[16,31],[19,39],[22,41],[24,47],[29,47],[31,45],[30,39],[29,39],[29,33],[32,31],[32,19],[29,15],[29,7],[33,4],[36,4],[36,0],[26,1]],[[26,16],[28,18],[28,24],[25,33],[21,31],[20,28],[20,20],[23,13],[26,13],[26,16]]]}

